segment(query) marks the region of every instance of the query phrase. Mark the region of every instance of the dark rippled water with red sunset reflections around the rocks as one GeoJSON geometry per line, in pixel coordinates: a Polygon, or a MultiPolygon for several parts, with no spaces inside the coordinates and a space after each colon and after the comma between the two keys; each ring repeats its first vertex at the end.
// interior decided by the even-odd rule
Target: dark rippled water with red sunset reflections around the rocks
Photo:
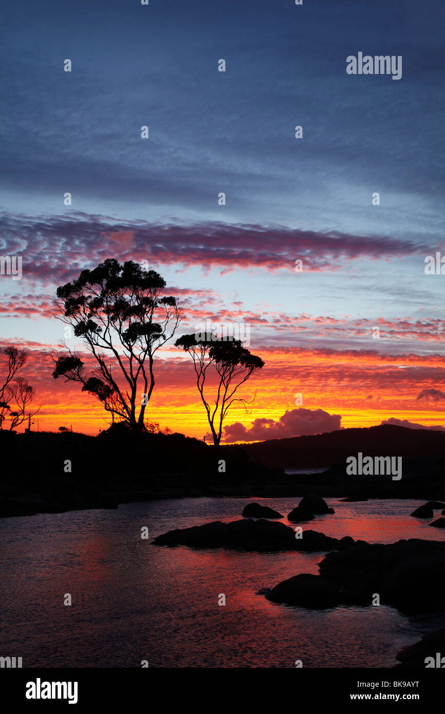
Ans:
{"type": "MultiPolygon", "coordinates": [[[[298,501],[262,502],[286,514],[298,501]]],[[[335,515],[304,527],[371,543],[445,538],[429,521],[409,517],[420,501],[326,501],[335,515]]],[[[172,528],[239,518],[246,503],[185,498],[1,519],[0,654],[21,656],[24,667],[140,667],[141,660],[151,667],[292,668],[296,660],[310,668],[391,667],[428,629],[428,618],[413,623],[385,605],[307,610],[255,594],[316,573],[323,553],[151,545],[172,528]],[[144,526],[149,540],[141,539],[144,526]],[[66,593],[71,606],[64,606],[66,593]]]]}

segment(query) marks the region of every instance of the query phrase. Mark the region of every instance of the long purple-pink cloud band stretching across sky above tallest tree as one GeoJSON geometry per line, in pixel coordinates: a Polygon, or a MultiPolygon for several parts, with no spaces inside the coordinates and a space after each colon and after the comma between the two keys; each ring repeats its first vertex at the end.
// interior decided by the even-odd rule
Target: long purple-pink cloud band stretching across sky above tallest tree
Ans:
{"type": "Polygon", "coordinates": [[[1,251],[24,256],[24,275],[59,282],[77,277],[79,268],[109,256],[148,259],[153,265],[179,263],[206,271],[262,268],[336,271],[344,261],[380,260],[430,251],[424,243],[389,236],[359,236],[339,231],[303,231],[285,226],[206,221],[177,225],[116,221],[74,211],[64,216],[0,217],[1,251]],[[261,246],[261,251],[259,251],[261,246]]]}

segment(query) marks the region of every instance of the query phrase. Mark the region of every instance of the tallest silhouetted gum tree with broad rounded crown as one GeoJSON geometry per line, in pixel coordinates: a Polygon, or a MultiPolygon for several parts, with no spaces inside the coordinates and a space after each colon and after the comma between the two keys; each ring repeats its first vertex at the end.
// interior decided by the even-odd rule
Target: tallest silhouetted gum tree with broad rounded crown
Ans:
{"type": "Polygon", "coordinates": [[[51,353],[54,379],[81,382],[82,391],[104,404],[112,422],[124,421],[132,429],[144,429],[154,388],[154,354],[174,336],[181,320],[176,298],[161,297],[165,286],[155,271],[107,258],[57,288],[59,319],[84,339],[96,369],[86,375],[84,363],[64,343],[67,353],[51,353]]]}

